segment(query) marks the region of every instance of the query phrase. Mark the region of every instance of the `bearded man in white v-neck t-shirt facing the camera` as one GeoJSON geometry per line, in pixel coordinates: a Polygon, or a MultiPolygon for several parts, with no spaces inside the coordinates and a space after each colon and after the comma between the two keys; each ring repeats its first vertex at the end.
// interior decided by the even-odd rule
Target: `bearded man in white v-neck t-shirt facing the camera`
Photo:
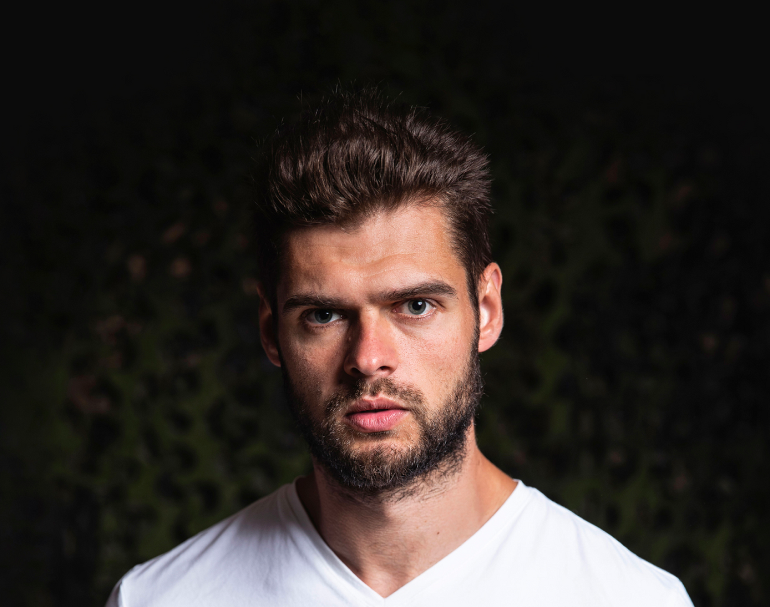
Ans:
{"type": "Polygon", "coordinates": [[[111,605],[691,605],[476,445],[503,326],[476,146],[340,94],[274,136],[256,182],[263,348],[313,472],[132,569],[111,605]]]}

